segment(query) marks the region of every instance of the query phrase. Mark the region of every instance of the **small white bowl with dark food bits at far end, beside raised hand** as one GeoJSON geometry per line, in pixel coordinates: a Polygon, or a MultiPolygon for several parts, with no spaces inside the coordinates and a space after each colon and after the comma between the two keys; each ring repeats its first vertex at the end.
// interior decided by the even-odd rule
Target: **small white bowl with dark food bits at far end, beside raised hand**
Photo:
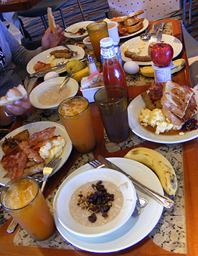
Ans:
{"type": "Polygon", "coordinates": [[[88,36],[86,27],[93,21],[77,22],[65,29],[65,37],[71,38],[75,41],[81,41],[88,36]]]}

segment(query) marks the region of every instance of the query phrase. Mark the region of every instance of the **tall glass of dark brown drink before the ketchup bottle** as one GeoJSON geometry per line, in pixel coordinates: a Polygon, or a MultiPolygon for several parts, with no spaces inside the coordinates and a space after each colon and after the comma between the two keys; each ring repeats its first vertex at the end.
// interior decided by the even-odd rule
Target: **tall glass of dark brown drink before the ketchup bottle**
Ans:
{"type": "Polygon", "coordinates": [[[94,95],[108,139],[123,142],[129,136],[126,90],[121,86],[100,88],[94,95]]]}

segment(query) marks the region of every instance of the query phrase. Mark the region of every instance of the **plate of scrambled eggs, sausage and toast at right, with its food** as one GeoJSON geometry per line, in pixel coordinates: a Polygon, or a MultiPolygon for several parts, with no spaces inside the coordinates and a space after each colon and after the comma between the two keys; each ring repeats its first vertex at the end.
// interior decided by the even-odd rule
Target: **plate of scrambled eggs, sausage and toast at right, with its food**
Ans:
{"type": "Polygon", "coordinates": [[[128,123],[138,137],[174,144],[198,137],[198,91],[178,83],[154,83],[128,106],[128,123]]]}

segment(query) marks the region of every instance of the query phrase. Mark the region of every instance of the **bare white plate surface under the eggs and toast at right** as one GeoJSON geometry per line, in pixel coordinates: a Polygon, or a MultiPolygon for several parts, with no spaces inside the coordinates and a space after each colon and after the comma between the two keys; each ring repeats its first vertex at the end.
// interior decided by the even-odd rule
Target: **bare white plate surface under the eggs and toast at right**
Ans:
{"type": "MultiPolygon", "coordinates": [[[[192,89],[195,93],[195,99],[198,104],[198,91],[192,89]]],[[[150,142],[157,143],[165,143],[165,144],[174,144],[187,142],[189,140],[193,140],[198,137],[198,129],[195,129],[191,132],[184,132],[184,135],[181,136],[179,134],[169,135],[169,134],[155,134],[154,132],[150,132],[148,129],[143,127],[138,122],[138,116],[141,114],[141,109],[145,109],[146,104],[143,101],[141,95],[138,95],[131,104],[128,105],[128,123],[129,127],[131,127],[132,132],[134,132],[138,137],[141,137],[144,140],[148,140],[150,142]]],[[[197,119],[197,116],[196,116],[197,119]]]]}

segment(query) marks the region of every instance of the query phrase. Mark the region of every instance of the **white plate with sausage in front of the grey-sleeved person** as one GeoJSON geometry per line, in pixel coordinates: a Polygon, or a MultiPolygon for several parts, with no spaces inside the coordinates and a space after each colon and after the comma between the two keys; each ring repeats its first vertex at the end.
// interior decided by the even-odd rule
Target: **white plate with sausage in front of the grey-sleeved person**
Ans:
{"type": "MultiPolygon", "coordinates": [[[[53,47],[34,56],[27,64],[27,72],[32,74],[40,70],[51,68],[62,63],[64,60],[80,60],[85,56],[85,51],[82,47],[77,45],[68,45],[68,47],[77,52],[75,57],[72,57],[70,50],[66,49],[64,46],[53,47]]],[[[57,70],[57,73],[62,72],[65,72],[65,68],[57,70]]]]}

